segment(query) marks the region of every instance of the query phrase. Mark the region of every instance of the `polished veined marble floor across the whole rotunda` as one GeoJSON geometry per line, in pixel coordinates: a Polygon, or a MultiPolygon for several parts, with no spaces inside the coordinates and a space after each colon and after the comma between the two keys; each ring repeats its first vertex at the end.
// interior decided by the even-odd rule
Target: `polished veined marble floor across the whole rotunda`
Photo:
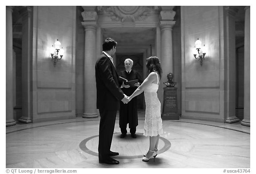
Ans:
{"type": "MultiPolygon", "coordinates": [[[[119,119],[112,151],[119,165],[98,162],[100,118],[6,127],[6,168],[250,168],[250,127],[199,120],[163,120],[155,162],[142,162],[149,147],[139,114],[137,138],[120,139],[119,119]]],[[[129,132],[129,129],[128,129],[129,132]]]]}

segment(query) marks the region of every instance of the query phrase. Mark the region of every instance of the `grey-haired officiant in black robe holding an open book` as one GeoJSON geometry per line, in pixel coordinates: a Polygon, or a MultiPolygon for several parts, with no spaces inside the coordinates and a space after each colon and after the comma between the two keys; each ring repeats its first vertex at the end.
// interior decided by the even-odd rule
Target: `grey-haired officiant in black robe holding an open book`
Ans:
{"type": "MultiPolygon", "coordinates": [[[[125,70],[120,72],[120,77],[127,79],[128,81],[138,79],[138,83],[135,83],[135,87],[130,85],[125,85],[122,79],[119,79],[119,83],[121,85],[121,90],[125,95],[131,96],[132,93],[140,86],[143,82],[140,74],[132,70],[133,61],[130,58],[125,59],[124,67],[125,70]]],[[[120,102],[120,110],[119,110],[119,127],[121,129],[120,138],[124,138],[127,134],[127,124],[129,124],[130,133],[132,138],[136,138],[136,126],[138,125],[138,112],[137,112],[137,98],[134,97],[128,104],[124,104],[120,102]]]]}

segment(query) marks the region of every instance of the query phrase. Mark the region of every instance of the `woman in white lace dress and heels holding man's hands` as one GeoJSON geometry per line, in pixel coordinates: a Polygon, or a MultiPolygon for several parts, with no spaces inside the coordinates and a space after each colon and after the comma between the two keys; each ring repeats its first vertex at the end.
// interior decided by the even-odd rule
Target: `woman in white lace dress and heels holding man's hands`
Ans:
{"type": "Polygon", "coordinates": [[[159,135],[163,133],[160,111],[161,104],[156,93],[162,75],[162,68],[159,58],[155,56],[147,58],[146,67],[148,68],[148,77],[136,89],[136,91],[134,91],[134,93],[128,97],[130,101],[133,97],[136,97],[140,93],[144,92],[146,111],[143,135],[149,136],[149,150],[146,154],[144,154],[144,158],[142,159],[144,162],[148,162],[151,157],[154,157],[155,160],[158,151],[157,146],[159,135]]]}

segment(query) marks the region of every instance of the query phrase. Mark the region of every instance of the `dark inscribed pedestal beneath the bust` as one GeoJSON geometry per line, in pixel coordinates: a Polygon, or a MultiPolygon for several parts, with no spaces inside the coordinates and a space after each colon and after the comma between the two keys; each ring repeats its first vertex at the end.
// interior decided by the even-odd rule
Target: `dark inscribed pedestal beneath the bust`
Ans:
{"type": "Polygon", "coordinates": [[[179,120],[177,105],[177,88],[164,87],[164,102],[162,111],[162,120],[179,120]]]}

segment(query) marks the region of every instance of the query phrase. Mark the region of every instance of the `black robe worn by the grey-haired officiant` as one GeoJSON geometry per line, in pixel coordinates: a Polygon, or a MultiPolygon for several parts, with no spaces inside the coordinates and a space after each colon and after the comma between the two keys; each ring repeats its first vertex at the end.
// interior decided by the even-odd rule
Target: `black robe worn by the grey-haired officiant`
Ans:
{"type": "MultiPolygon", "coordinates": [[[[121,71],[119,76],[124,77],[128,81],[138,79],[140,84],[143,82],[140,74],[135,70],[131,70],[129,74],[126,72],[126,70],[121,71]]],[[[123,81],[119,79],[119,84],[122,85],[122,83],[123,81]]],[[[137,87],[121,88],[124,94],[128,97],[131,96],[136,89],[137,87]]],[[[136,128],[138,125],[137,97],[134,97],[128,102],[128,104],[120,102],[119,127],[126,128],[127,124],[129,124],[129,128],[136,128]]]]}

